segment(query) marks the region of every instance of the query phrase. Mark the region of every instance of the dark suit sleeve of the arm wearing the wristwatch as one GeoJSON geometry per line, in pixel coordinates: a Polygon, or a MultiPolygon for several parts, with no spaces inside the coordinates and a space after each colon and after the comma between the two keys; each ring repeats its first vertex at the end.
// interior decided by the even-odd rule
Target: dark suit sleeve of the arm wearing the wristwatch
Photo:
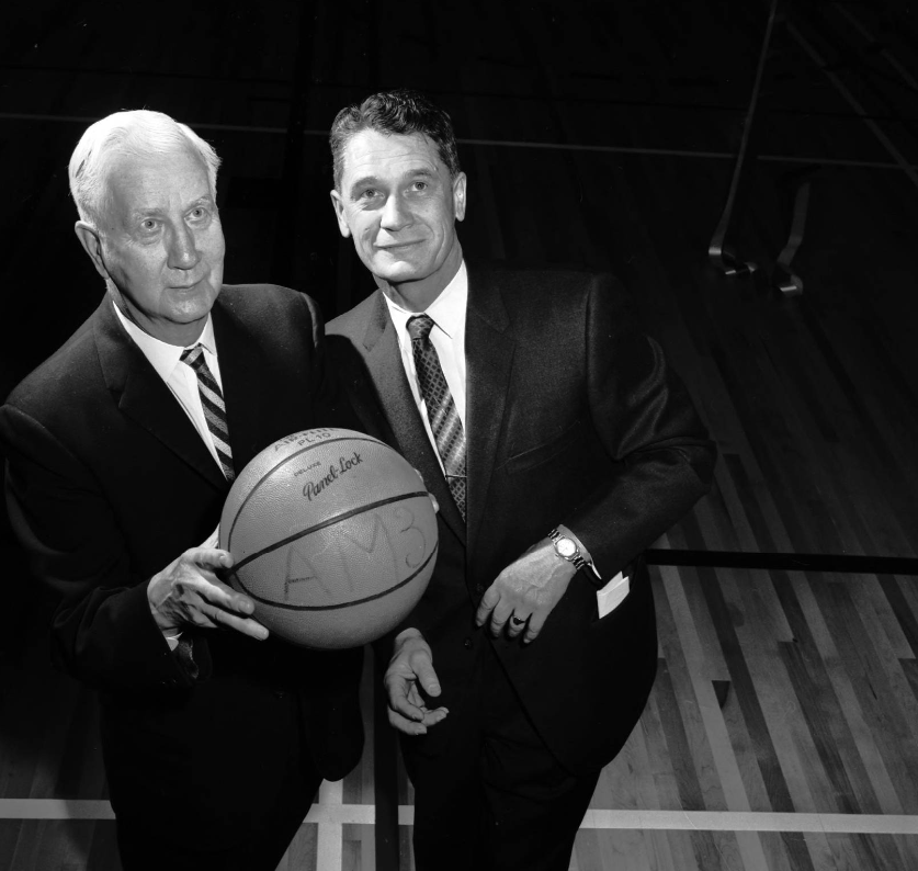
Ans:
{"type": "Polygon", "coordinates": [[[613,282],[603,276],[590,291],[586,347],[590,416],[615,471],[559,518],[605,578],[707,491],[716,459],[685,387],[613,282]]]}

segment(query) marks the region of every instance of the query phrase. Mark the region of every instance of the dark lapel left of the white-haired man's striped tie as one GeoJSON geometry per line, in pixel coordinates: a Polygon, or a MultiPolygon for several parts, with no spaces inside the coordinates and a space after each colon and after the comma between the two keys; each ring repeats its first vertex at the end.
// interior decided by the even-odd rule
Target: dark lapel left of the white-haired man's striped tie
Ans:
{"type": "Polygon", "coordinates": [[[159,439],[215,487],[226,490],[226,478],[194,425],[125,332],[107,295],[97,309],[93,332],[105,383],[121,412],[159,439]]]}

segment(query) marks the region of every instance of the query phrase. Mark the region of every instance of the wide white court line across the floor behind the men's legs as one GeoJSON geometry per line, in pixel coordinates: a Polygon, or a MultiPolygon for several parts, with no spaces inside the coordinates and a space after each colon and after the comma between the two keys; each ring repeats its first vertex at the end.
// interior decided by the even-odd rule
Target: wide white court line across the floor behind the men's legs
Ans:
{"type": "MultiPolygon", "coordinates": [[[[342,804],[341,783],[324,783],[319,804],[314,804],[307,823],[319,826],[329,840],[337,832],[340,852],[345,824],[373,825],[372,804],[342,804]],[[331,827],[335,828],[331,828],[331,827]]],[[[69,799],[0,799],[0,819],[114,819],[112,806],[103,801],[69,799]]],[[[415,808],[399,805],[398,823],[410,826],[415,808]]],[[[818,832],[831,835],[918,835],[918,816],[904,814],[779,814],[747,811],[587,811],[585,829],[698,829],[701,832],[818,832]]],[[[340,867],[340,862],[338,866],[340,867]]]]}

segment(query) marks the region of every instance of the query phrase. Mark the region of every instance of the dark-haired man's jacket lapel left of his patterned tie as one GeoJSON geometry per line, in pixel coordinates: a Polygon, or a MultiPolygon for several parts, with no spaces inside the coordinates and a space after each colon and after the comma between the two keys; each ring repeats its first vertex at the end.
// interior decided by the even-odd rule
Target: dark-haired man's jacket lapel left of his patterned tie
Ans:
{"type": "Polygon", "coordinates": [[[411,387],[401,365],[401,352],[382,291],[376,291],[375,306],[363,340],[366,366],[379,394],[384,414],[405,459],[424,479],[424,485],[440,504],[440,514],[465,543],[465,523],[456,508],[433,445],[427,436],[411,387]]]}

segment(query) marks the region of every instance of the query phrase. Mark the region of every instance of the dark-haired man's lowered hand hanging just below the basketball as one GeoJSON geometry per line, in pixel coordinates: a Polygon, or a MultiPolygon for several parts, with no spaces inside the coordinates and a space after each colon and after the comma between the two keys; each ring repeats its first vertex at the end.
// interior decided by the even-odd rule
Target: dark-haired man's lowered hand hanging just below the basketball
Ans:
{"type": "Polygon", "coordinates": [[[426,735],[428,726],[435,726],[449,713],[445,708],[428,708],[419,683],[428,695],[440,694],[430,645],[418,630],[406,629],[396,636],[395,654],[383,678],[389,695],[389,723],[406,735],[426,735]]]}

